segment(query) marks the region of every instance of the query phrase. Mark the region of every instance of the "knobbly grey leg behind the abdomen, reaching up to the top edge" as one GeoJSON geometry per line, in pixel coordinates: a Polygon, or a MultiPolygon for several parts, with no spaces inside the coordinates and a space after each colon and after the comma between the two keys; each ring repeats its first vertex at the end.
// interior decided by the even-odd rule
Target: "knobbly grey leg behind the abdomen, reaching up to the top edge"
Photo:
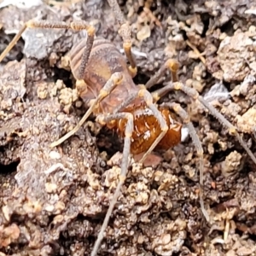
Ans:
{"type": "Polygon", "coordinates": [[[131,72],[131,76],[135,77],[137,74],[137,66],[136,61],[131,53],[131,27],[127,20],[125,20],[125,16],[123,15],[121,9],[119,8],[119,4],[116,0],[108,0],[108,4],[113,10],[113,14],[115,15],[115,19],[118,21],[120,30],[119,34],[123,38],[124,44],[123,48],[125,50],[125,55],[130,62],[129,70],[131,72]]]}

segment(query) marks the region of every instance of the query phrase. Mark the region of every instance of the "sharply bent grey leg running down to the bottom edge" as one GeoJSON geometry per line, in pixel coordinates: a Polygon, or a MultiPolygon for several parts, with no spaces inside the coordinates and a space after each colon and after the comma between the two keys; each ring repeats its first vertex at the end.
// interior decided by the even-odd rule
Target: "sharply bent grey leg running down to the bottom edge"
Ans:
{"type": "Polygon", "coordinates": [[[103,239],[104,232],[108,226],[109,218],[113,212],[113,207],[115,206],[116,202],[118,201],[120,189],[122,188],[123,183],[125,182],[125,177],[128,171],[128,161],[129,161],[129,154],[130,154],[130,148],[131,148],[131,135],[133,132],[133,115],[131,113],[113,113],[108,116],[100,115],[98,116],[97,120],[100,123],[108,123],[109,121],[113,119],[126,119],[127,123],[125,126],[125,144],[124,144],[124,150],[123,150],[123,159],[121,163],[121,173],[119,177],[119,183],[117,185],[117,188],[113,194],[113,199],[110,202],[110,205],[108,207],[108,212],[104,218],[102,228],[98,234],[98,237],[96,239],[96,242],[94,244],[94,247],[92,249],[92,252],[90,253],[90,256],[96,256],[96,253],[100,247],[100,244],[103,239]]]}

